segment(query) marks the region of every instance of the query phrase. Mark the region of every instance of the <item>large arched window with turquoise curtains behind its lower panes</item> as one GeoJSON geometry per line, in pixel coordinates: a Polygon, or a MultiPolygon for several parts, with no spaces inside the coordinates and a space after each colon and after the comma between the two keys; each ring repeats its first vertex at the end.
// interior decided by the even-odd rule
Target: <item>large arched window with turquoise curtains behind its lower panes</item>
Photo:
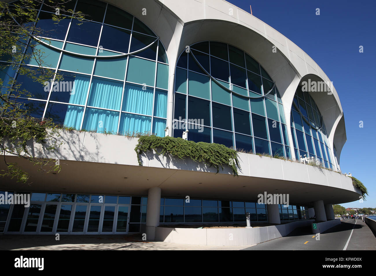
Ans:
{"type": "MultiPolygon", "coordinates": [[[[31,94],[17,101],[25,102],[32,116],[52,118],[77,130],[165,136],[169,66],[158,36],[133,15],[102,1],[73,0],[64,5],[86,14],[86,20],[66,18],[54,24],[51,12],[55,11],[38,6],[40,37],[49,38],[48,44],[61,50],[35,46],[43,52],[43,66],[50,68],[45,70],[63,78],[46,87],[17,73],[20,90],[31,94]]],[[[24,60],[24,66],[39,69],[33,60],[24,60]]],[[[203,80],[196,82],[197,88],[203,85],[203,80]]]]}

